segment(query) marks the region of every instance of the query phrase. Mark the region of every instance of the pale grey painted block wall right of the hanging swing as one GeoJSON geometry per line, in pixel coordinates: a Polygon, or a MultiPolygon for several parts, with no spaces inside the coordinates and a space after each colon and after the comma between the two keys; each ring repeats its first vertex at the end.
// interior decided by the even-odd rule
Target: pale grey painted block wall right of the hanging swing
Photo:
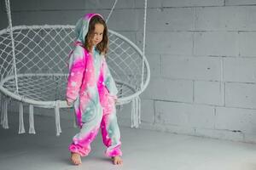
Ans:
{"type": "Polygon", "coordinates": [[[143,127],[256,142],[256,7],[253,1],[211,3],[149,4],[146,52],[160,54],[160,64],[149,59],[160,75],[143,94],[155,109],[155,122],[143,127]]]}

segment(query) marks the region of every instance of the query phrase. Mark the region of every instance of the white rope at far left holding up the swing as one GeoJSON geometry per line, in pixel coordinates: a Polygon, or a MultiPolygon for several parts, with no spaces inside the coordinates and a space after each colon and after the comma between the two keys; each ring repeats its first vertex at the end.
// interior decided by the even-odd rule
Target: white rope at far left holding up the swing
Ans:
{"type": "Polygon", "coordinates": [[[6,7],[7,14],[8,14],[9,35],[10,35],[11,41],[12,41],[12,53],[13,53],[13,60],[14,60],[13,67],[15,68],[15,85],[16,85],[15,88],[16,88],[16,93],[19,94],[17,69],[16,69],[16,61],[15,61],[15,40],[14,40],[14,33],[13,33],[13,25],[12,25],[12,18],[11,18],[9,0],[5,0],[5,7],[6,7]]]}

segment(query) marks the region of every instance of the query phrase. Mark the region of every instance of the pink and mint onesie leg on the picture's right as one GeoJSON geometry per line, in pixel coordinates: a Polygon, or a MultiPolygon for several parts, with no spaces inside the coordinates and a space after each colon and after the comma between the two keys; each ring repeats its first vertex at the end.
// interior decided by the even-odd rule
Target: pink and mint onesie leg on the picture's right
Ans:
{"type": "Polygon", "coordinates": [[[116,110],[113,98],[109,97],[108,102],[104,102],[103,117],[101,123],[103,143],[108,147],[106,156],[122,156],[120,150],[120,131],[116,117],[116,110]]]}

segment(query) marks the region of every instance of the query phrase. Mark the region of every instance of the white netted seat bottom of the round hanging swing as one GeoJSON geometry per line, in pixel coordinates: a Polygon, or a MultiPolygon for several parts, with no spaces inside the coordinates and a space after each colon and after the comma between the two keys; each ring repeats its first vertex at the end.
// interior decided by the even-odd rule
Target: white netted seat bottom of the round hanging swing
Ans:
{"type": "MultiPolygon", "coordinates": [[[[0,85],[3,94],[9,97],[41,107],[54,107],[55,101],[59,101],[61,107],[67,107],[65,101],[67,75],[17,75],[19,82],[19,94],[15,92],[15,77],[5,78],[0,85]]],[[[136,90],[129,85],[117,82],[117,87],[125,94],[135,94],[136,90]]],[[[119,93],[119,100],[122,94],[119,93]]],[[[123,103],[124,104],[124,103],[123,103]]],[[[120,102],[118,102],[120,105],[120,102]]]]}

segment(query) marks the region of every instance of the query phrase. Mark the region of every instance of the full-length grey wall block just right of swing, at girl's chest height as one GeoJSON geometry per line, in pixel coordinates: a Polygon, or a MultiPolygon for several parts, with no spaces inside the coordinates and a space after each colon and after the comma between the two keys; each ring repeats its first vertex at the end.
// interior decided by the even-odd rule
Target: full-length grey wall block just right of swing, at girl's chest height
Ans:
{"type": "Polygon", "coordinates": [[[161,75],[170,78],[218,81],[221,62],[217,57],[169,57],[163,55],[161,75]]]}

